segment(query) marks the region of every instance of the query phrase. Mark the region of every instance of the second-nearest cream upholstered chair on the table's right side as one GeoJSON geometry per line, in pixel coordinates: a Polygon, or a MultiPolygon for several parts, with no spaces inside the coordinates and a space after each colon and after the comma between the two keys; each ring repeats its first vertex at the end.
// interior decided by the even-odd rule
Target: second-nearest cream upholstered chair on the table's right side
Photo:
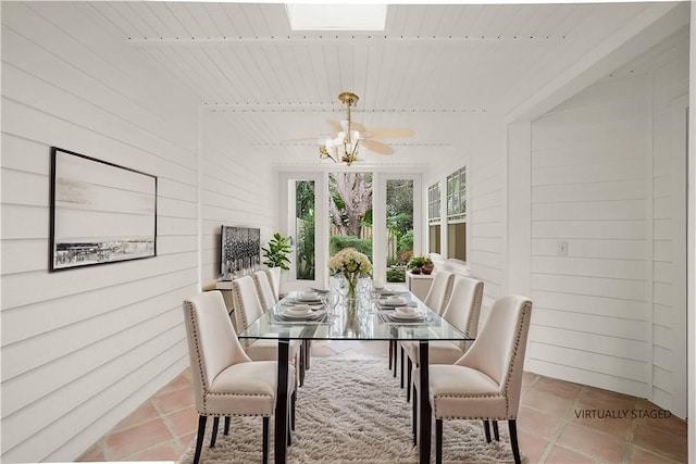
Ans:
{"type": "MultiPolygon", "coordinates": [[[[478,331],[478,316],[481,314],[481,301],[483,300],[483,280],[473,279],[464,276],[455,276],[451,296],[443,311],[443,318],[469,335],[476,338],[478,331]]],[[[401,347],[407,354],[408,366],[406,373],[407,393],[406,400],[409,401],[411,393],[411,371],[413,365],[418,365],[419,360],[418,341],[402,341],[401,347]]],[[[449,340],[432,340],[428,343],[428,364],[453,364],[459,360],[467,349],[471,346],[471,341],[449,341],[449,340]]],[[[403,366],[401,366],[403,368],[403,366]]]]}

